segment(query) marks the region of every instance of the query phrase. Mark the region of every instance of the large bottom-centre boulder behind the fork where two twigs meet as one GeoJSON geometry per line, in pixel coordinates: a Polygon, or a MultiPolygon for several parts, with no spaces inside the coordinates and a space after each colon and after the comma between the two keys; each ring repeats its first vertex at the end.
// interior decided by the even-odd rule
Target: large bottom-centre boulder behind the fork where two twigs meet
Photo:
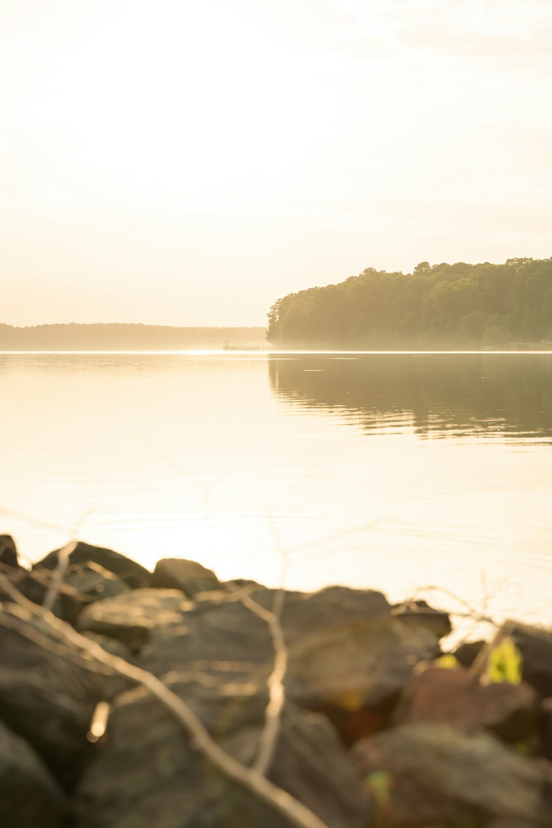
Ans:
{"type": "MultiPolygon", "coordinates": [[[[199,674],[167,677],[221,747],[251,763],[266,696],[251,683],[226,685],[199,674]]],[[[268,773],[329,828],[365,828],[360,777],[324,717],[289,707],[268,773]]],[[[137,689],[120,696],[109,739],[85,774],[77,811],[83,828],[289,828],[289,822],[218,773],[179,725],[137,689]]]]}

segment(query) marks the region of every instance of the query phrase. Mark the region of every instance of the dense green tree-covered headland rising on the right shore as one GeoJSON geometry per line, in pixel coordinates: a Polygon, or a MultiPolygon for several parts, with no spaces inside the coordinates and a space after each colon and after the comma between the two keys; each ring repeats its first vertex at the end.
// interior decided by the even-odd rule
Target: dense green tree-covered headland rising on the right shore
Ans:
{"type": "Polygon", "coordinates": [[[552,258],[504,264],[420,262],[290,293],[268,314],[281,348],[523,347],[552,340],[552,258]]]}

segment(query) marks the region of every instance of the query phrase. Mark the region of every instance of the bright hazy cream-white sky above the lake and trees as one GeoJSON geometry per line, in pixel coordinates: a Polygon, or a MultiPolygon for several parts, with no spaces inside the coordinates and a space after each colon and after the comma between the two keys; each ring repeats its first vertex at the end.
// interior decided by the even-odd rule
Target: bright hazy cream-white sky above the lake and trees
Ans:
{"type": "Polygon", "coordinates": [[[0,321],[552,255],[552,0],[0,0],[0,321]]]}

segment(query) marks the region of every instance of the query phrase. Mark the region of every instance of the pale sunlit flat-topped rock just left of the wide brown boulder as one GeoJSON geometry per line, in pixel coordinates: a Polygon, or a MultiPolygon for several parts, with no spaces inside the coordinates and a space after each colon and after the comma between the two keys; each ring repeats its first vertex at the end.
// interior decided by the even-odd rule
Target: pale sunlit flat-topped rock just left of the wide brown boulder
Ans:
{"type": "Polygon", "coordinates": [[[180,590],[129,590],[89,604],[77,628],[117,638],[137,651],[156,628],[180,628],[192,606],[180,590]]]}

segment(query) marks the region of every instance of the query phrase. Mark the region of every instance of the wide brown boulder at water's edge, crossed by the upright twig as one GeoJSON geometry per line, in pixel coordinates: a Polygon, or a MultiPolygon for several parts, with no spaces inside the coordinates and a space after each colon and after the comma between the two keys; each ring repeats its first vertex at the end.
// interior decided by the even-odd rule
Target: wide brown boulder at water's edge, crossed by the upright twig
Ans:
{"type": "MultiPolygon", "coordinates": [[[[250,593],[264,609],[271,609],[275,595],[250,593]]],[[[329,715],[348,741],[385,724],[415,664],[439,655],[434,633],[393,619],[384,596],[370,590],[286,593],[281,624],[289,650],[288,697],[329,715]]],[[[198,601],[180,628],[156,628],[142,652],[142,665],[157,674],[203,669],[261,678],[273,661],[266,621],[223,593],[198,601]]]]}

